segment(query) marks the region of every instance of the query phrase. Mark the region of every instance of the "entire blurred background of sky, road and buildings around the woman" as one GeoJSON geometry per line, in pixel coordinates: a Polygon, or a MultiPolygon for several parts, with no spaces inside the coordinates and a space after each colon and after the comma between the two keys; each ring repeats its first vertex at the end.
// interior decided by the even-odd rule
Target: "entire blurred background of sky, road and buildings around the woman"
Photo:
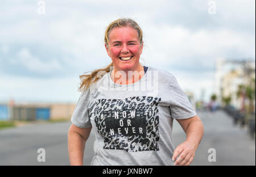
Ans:
{"type": "Polygon", "coordinates": [[[104,32],[122,17],[142,28],[141,63],[173,74],[205,125],[192,165],[255,165],[254,0],[1,1],[0,165],[69,165],[79,75],[110,64],[104,32]]]}

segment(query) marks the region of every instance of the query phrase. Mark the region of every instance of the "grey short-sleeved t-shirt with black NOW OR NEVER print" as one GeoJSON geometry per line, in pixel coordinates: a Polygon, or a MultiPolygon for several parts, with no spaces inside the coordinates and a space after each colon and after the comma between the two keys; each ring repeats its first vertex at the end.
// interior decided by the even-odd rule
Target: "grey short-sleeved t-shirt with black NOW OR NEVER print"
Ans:
{"type": "Polygon", "coordinates": [[[196,115],[175,77],[148,67],[138,82],[119,85],[110,73],[81,93],[71,118],[94,131],[91,165],[174,165],[173,120],[196,115]]]}

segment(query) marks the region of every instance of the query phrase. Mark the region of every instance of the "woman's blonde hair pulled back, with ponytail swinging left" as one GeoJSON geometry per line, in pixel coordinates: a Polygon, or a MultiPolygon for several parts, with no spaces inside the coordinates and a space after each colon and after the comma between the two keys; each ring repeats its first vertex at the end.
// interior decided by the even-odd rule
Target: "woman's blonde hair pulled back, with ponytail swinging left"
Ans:
{"type": "MultiPolygon", "coordinates": [[[[138,32],[138,39],[142,45],[142,42],[143,42],[142,41],[142,30],[139,27],[139,25],[132,19],[121,18],[121,19],[114,20],[114,22],[110,23],[109,26],[106,28],[104,43],[106,44],[107,47],[109,47],[109,34],[112,31],[112,29],[117,28],[117,27],[132,27],[132,28],[134,28],[138,32]]],[[[96,70],[92,71],[92,73],[90,73],[90,74],[80,75],[81,82],[80,82],[79,91],[87,90],[91,83],[97,82],[98,79],[101,78],[101,77],[99,77],[99,76],[102,76],[101,73],[103,73],[103,74],[108,73],[110,71],[111,66],[113,66],[113,62],[111,62],[111,64],[109,64],[106,68],[96,69],[96,70]],[[99,75],[99,73],[100,73],[100,75],[99,75]]]]}

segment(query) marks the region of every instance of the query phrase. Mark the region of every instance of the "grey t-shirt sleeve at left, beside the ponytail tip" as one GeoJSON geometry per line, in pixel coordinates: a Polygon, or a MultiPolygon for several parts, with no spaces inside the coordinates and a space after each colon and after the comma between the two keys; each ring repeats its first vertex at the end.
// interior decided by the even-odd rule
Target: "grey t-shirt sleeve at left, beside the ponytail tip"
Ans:
{"type": "Polygon", "coordinates": [[[89,117],[89,103],[90,103],[90,91],[88,90],[82,91],[77,102],[75,111],[71,117],[72,124],[76,125],[76,127],[80,128],[89,128],[92,127],[90,123],[89,117]]]}

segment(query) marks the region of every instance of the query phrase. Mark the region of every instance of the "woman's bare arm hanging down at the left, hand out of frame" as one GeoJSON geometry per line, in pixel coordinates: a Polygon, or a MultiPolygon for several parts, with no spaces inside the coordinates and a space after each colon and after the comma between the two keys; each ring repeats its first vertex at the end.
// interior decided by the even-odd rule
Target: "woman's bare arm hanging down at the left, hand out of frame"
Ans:
{"type": "Polygon", "coordinates": [[[68,130],[68,154],[70,165],[82,165],[84,159],[84,147],[90,135],[90,128],[79,128],[71,125],[68,130]]]}

